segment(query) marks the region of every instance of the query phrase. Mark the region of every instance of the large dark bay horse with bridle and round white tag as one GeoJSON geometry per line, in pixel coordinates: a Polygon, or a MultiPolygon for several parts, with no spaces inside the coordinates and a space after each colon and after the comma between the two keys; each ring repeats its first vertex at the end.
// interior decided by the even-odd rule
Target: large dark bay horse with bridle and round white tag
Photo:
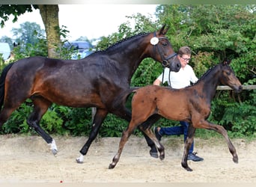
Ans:
{"type": "Polygon", "coordinates": [[[54,139],[40,127],[40,119],[49,106],[55,102],[70,107],[95,107],[97,111],[88,141],[76,159],[82,163],[109,112],[130,120],[131,112],[116,98],[129,89],[132,74],[144,58],[153,58],[176,72],[180,70],[177,54],[165,37],[167,31],[168,27],[163,25],[159,31],[127,38],[81,60],[31,57],[9,64],[0,78],[0,108],[4,105],[0,127],[25,99],[30,98],[34,110],[28,117],[28,126],[34,128],[56,154],[54,139]]]}

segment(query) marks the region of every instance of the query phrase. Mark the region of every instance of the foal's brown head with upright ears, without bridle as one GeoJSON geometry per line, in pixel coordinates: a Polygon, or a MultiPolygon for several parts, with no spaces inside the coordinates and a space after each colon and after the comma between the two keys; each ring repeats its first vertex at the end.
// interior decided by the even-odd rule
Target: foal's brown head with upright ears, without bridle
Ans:
{"type": "Polygon", "coordinates": [[[222,75],[220,76],[219,81],[223,85],[228,85],[229,87],[233,88],[235,92],[240,93],[243,90],[243,87],[229,64],[231,64],[231,61],[224,61],[222,64],[220,64],[222,67],[222,75]]]}

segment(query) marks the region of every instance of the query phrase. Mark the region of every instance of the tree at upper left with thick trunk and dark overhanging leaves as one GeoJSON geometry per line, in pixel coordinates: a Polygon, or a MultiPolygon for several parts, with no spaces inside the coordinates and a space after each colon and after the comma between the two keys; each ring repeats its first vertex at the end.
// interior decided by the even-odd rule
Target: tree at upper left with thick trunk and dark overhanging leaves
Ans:
{"type": "Polygon", "coordinates": [[[4,27],[4,22],[13,15],[13,22],[23,13],[31,12],[34,9],[40,10],[43,24],[46,28],[46,40],[48,45],[48,57],[58,58],[56,49],[61,45],[60,28],[58,22],[58,4],[1,4],[0,5],[0,25],[4,27]]]}

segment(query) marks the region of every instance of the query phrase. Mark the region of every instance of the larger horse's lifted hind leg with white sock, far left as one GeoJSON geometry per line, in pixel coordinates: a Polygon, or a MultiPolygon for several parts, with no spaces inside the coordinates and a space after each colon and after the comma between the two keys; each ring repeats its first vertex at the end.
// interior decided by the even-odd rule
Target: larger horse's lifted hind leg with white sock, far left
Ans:
{"type": "Polygon", "coordinates": [[[49,102],[49,100],[40,96],[32,97],[31,99],[34,102],[34,110],[28,117],[28,126],[31,126],[31,128],[33,128],[47,144],[50,144],[52,153],[55,155],[58,152],[55,140],[40,127],[40,120],[52,102],[49,102]]]}

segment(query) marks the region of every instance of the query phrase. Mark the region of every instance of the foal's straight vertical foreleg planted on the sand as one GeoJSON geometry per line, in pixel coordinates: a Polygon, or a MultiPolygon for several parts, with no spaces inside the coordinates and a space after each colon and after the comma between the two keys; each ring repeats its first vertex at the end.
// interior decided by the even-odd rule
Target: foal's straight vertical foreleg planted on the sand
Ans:
{"type": "Polygon", "coordinates": [[[186,169],[186,171],[192,171],[192,169],[189,168],[187,161],[188,161],[189,149],[192,145],[194,135],[195,135],[195,128],[192,126],[192,124],[189,124],[188,136],[187,136],[185,144],[184,144],[184,152],[183,152],[183,157],[182,157],[182,161],[181,161],[181,165],[183,168],[186,169]]]}

